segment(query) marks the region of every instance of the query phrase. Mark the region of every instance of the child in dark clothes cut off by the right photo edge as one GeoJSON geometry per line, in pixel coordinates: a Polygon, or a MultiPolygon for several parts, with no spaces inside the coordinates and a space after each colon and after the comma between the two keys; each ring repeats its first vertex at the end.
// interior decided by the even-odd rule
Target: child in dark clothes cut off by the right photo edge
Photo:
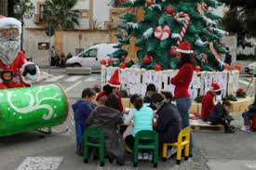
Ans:
{"type": "Polygon", "coordinates": [[[244,112],[242,115],[244,118],[244,126],[242,126],[241,130],[245,132],[250,132],[250,120],[252,120],[253,117],[256,117],[256,98],[254,99],[253,104],[249,105],[248,111],[244,112]]]}

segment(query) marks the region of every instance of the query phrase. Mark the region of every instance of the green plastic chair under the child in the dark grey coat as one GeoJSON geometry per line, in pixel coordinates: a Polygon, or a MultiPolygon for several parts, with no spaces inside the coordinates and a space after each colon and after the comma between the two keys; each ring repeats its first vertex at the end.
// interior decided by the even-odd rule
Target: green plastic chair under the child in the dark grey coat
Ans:
{"type": "Polygon", "coordinates": [[[98,149],[101,166],[104,166],[104,134],[100,129],[88,127],[84,133],[84,163],[88,163],[88,149],[98,149]],[[98,142],[90,142],[89,138],[97,138],[98,142]]]}

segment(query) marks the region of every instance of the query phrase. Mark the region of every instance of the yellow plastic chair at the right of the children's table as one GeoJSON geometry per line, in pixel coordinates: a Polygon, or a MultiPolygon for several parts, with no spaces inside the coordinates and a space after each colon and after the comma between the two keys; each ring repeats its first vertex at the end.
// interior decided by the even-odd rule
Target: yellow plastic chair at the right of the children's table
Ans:
{"type": "Polygon", "coordinates": [[[190,146],[190,126],[184,128],[178,137],[178,142],[175,143],[164,143],[162,158],[167,160],[168,147],[175,147],[177,149],[177,164],[181,164],[182,161],[182,147],[185,149],[184,160],[187,161],[189,157],[189,146],[190,146]]]}

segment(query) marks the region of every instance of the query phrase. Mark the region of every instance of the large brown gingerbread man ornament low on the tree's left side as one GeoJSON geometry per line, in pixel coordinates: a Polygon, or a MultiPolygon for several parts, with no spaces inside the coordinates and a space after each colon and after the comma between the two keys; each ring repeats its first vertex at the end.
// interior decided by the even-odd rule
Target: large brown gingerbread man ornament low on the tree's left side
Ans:
{"type": "Polygon", "coordinates": [[[126,58],[125,63],[128,63],[131,60],[134,62],[134,64],[139,63],[140,60],[137,57],[137,52],[140,51],[142,48],[136,46],[136,43],[137,43],[136,37],[132,36],[129,39],[129,45],[122,46],[123,50],[128,51],[128,57],[126,58]]]}

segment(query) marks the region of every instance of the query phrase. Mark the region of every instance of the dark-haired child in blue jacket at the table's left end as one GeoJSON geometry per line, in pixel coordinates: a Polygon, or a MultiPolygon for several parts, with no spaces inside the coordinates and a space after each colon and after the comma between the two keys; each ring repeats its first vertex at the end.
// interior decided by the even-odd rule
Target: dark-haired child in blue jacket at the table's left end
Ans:
{"type": "Polygon", "coordinates": [[[95,93],[91,88],[84,89],[82,93],[82,98],[77,100],[74,105],[72,105],[74,111],[74,122],[75,122],[75,130],[76,130],[76,138],[77,138],[77,154],[82,154],[82,140],[83,134],[86,127],[86,121],[88,119],[89,114],[94,108],[92,101],[95,98],[95,93]]]}

